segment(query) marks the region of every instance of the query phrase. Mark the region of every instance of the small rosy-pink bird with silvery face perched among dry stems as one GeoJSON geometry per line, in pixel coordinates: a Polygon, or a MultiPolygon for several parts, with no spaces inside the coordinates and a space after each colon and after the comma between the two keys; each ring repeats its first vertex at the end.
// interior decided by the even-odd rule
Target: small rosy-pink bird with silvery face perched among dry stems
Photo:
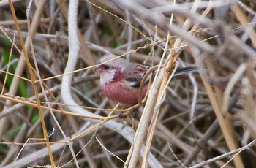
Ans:
{"type": "MultiPolygon", "coordinates": [[[[115,55],[108,55],[99,60],[97,70],[100,74],[100,88],[109,99],[121,104],[133,106],[138,104],[138,94],[141,80],[150,66],[132,63],[115,55]],[[116,58],[112,61],[110,59],[116,58]],[[108,61],[108,62],[106,62],[108,61]],[[102,64],[104,63],[104,64],[102,64]]],[[[195,67],[179,68],[176,71],[193,72],[195,67]]],[[[143,84],[142,99],[146,96],[149,80],[143,84]]]]}

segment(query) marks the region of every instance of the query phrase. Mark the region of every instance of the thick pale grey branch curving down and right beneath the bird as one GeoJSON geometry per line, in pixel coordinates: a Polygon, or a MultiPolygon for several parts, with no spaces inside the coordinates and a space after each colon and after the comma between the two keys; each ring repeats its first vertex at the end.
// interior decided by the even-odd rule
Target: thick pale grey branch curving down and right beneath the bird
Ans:
{"type": "MultiPolygon", "coordinates": [[[[78,12],[78,1],[70,1],[69,2],[69,17],[68,17],[68,24],[69,24],[69,58],[67,61],[67,66],[64,71],[64,74],[72,72],[75,69],[75,65],[78,60],[78,53],[80,50],[79,40],[78,40],[78,29],[77,29],[77,12],[78,12]],[[72,6],[71,6],[72,5],[72,6]]],[[[69,106],[69,110],[72,112],[76,112],[83,115],[91,115],[91,116],[97,116],[95,114],[92,114],[91,112],[84,110],[80,107],[78,107],[78,104],[72,99],[71,95],[71,80],[72,80],[72,74],[64,75],[62,78],[61,83],[61,96],[64,101],[64,103],[71,104],[72,106],[69,106]]],[[[91,123],[99,123],[97,120],[93,119],[86,119],[86,121],[89,121],[91,123]]],[[[129,126],[123,126],[121,123],[117,123],[116,121],[108,121],[106,123],[103,123],[101,126],[104,126],[105,128],[111,129],[113,131],[116,131],[118,134],[121,134],[125,139],[127,139],[130,143],[133,142],[133,137],[135,135],[135,131],[129,127],[129,126]]],[[[144,148],[140,151],[140,154],[143,154],[144,148]]],[[[159,161],[157,161],[156,158],[151,154],[148,159],[148,164],[150,164],[151,167],[162,167],[161,164],[159,164],[159,161]]]]}

